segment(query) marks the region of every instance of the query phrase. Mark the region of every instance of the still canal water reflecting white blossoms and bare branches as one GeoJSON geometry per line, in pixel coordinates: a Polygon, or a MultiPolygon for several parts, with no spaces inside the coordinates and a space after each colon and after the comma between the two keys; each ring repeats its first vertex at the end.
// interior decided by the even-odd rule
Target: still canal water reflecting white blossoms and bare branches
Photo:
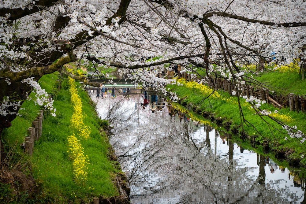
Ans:
{"type": "Polygon", "coordinates": [[[305,172],[234,143],[231,135],[174,111],[152,113],[143,95],[95,98],[110,120],[131,203],[305,203],[305,172]]]}

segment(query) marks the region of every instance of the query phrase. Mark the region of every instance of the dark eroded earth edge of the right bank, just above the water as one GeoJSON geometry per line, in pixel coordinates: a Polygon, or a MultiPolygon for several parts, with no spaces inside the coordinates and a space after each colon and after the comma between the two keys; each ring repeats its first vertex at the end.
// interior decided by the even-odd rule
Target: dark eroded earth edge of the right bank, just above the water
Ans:
{"type": "MultiPolygon", "coordinates": [[[[173,87],[168,91],[176,92],[175,88],[173,87]]],[[[177,97],[180,98],[182,96],[177,94],[177,97]]],[[[192,111],[197,115],[200,115],[203,118],[209,119],[210,121],[215,122],[217,125],[224,127],[227,132],[230,132],[233,135],[237,135],[244,142],[247,141],[252,148],[258,150],[259,147],[262,147],[263,149],[260,150],[260,152],[264,154],[272,154],[278,160],[285,160],[288,162],[290,167],[306,167],[306,165],[301,164],[301,158],[292,156],[292,153],[294,152],[292,148],[284,146],[285,150],[280,150],[279,148],[273,148],[272,146],[269,146],[268,141],[256,141],[256,135],[248,135],[246,132],[241,131],[242,125],[233,125],[233,121],[231,121],[229,118],[216,117],[218,112],[211,112],[204,109],[199,109],[199,107],[196,104],[190,102],[190,100],[188,100],[188,103],[186,103],[186,99],[188,99],[188,96],[184,96],[184,98],[178,99],[177,104],[184,107],[188,111],[192,111]]]]}

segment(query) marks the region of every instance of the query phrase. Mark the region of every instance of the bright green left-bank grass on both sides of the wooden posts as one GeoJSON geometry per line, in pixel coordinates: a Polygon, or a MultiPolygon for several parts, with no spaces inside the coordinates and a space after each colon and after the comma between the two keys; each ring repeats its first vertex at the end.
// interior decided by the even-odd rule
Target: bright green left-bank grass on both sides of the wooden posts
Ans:
{"type": "MultiPolygon", "coordinates": [[[[42,194],[57,203],[89,203],[93,197],[117,196],[118,191],[112,183],[112,178],[120,171],[119,165],[116,161],[109,161],[107,155],[110,144],[107,135],[104,132],[100,133],[101,125],[107,122],[98,118],[93,102],[87,93],[81,90],[79,96],[82,99],[83,112],[87,115],[85,124],[91,128],[91,139],[81,143],[90,164],[88,182],[84,186],[78,186],[73,182],[72,161],[67,153],[67,137],[70,135],[69,124],[73,107],[70,103],[68,83],[63,80],[60,92],[54,88],[57,85],[57,77],[58,74],[50,74],[43,76],[39,81],[42,88],[57,99],[54,101],[57,116],[52,117],[44,113],[42,137],[35,141],[32,156],[33,177],[37,184],[42,186],[42,194]]],[[[26,129],[31,126],[31,121],[39,110],[33,102],[25,102],[22,107],[25,108],[21,111],[23,116],[17,117],[12,127],[6,131],[4,139],[8,141],[8,146],[23,142],[24,135],[27,134],[26,129]]]]}

